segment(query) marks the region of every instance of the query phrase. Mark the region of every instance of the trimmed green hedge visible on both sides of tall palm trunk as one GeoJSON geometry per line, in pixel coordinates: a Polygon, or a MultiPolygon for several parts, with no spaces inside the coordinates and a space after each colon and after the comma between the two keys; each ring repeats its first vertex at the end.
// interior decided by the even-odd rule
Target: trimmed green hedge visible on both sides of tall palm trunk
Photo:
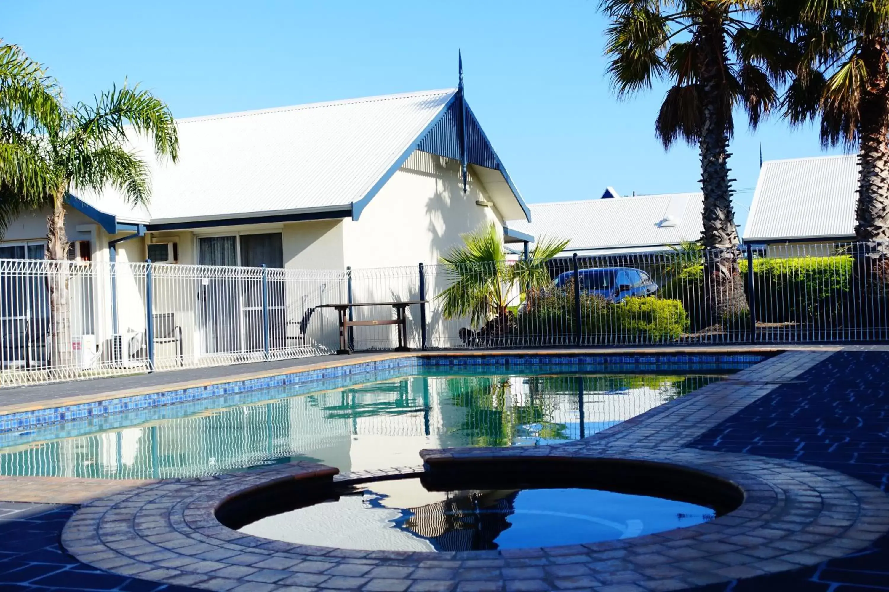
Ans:
{"type": "MultiPolygon", "coordinates": [[[[748,264],[740,262],[747,288],[748,264]]],[[[757,320],[837,325],[852,283],[853,259],[836,257],[758,258],[753,261],[757,320]]],[[[677,298],[692,312],[693,325],[704,300],[703,265],[686,267],[661,286],[659,296],[677,298]]],[[[693,327],[698,329],[700,327],[693,327]]]]}

